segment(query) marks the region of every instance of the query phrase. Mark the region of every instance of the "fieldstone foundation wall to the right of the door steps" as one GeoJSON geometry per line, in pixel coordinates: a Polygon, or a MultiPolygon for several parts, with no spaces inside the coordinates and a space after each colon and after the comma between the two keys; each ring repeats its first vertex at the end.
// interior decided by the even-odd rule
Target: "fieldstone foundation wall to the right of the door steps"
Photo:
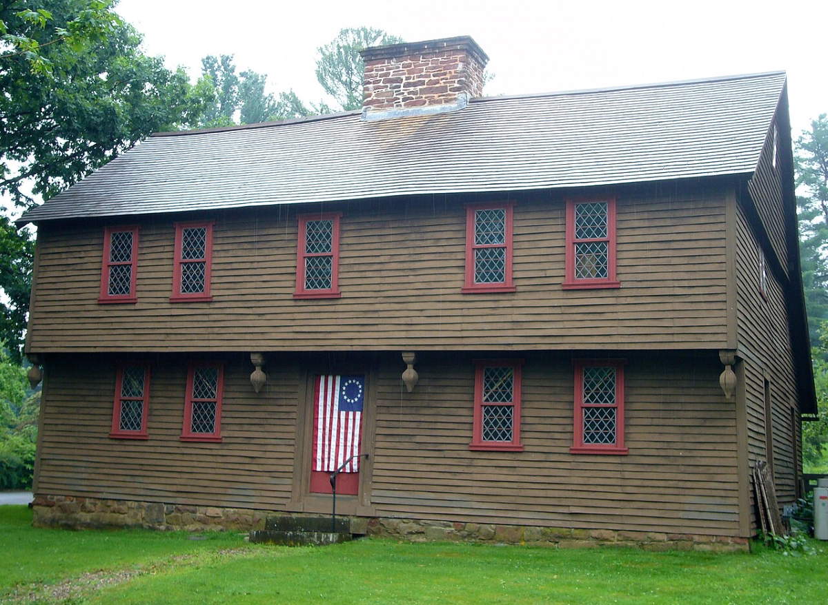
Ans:
{"type": "Polygon", "coordinates": [[[416,519],[371,519],[368,535],[409,541],[465,541],[488,544],[526,544],[556,548],[636,546],[643,550],[748,550],[746,538],[698,536],[652,531],[568,529],[519,525],[491,525],[419,521],[416,519]]]}

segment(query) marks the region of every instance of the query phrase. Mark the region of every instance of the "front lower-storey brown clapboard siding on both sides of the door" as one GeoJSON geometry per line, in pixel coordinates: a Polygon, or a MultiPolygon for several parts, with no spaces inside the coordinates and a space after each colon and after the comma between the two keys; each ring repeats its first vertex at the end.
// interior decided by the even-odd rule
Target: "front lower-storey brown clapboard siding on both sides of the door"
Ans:
{"type": "MultiPolygon", "coordinates": [[[[502,355],[502,354],[501,354],[502,355]]],[[[324,360],[325,358],[319,358],[324,360]]],[[[397,355],[380,355],[370,503],[380,517],[735,536],[735,412],[713,353],[630,355],[629,455],[573,455],[568,354],[523,355],[522,452],[470,451],[473,355],[423,354],[413,393],[397,355]]],[[[152,361],[147,441],[108,439],[113,361],[48,364],[39,493],[278,510],[293,469],[299,365],[228,358],[224,441],[179,441],[186,359],[152,361]]],[[[324,363],[324,361],[323,361],[324,363]]]]}

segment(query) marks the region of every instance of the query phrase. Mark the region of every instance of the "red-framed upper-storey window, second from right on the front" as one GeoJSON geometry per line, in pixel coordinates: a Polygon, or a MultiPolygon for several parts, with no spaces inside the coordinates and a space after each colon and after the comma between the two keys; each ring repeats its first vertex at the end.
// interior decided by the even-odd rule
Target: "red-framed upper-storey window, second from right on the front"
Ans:
{"type": "Polygon", "coordinates": [[[511,202],[466,207],[463,292],[514,292],[511,202]]]}

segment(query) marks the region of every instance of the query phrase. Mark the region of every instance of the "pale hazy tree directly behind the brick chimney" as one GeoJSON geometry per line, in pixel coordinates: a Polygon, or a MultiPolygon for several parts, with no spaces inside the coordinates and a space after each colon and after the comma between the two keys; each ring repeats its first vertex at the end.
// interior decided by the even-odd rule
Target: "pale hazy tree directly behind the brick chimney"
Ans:
{"type": "Polygon", "coordinates": [[[359,109],[363,101],[364,64],[359,51],[368,46],[399,44],[402,38],[373,27],[345,28],[320,46],[316,60],[316,79],[345,111],[359,109]]]}

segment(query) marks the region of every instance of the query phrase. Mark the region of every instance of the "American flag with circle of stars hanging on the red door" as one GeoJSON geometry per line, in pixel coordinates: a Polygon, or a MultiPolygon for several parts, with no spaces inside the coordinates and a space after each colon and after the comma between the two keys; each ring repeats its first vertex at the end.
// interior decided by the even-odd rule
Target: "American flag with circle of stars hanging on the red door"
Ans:
{"type": "MultiPolygon", "coordinates": [[[[345,460],[360,453],[364,400],[364,376],[316,377],[313,470],[333,472],[345,460]]],[[[359,458],[351,460],[343,470],[358,473],[359,458]]]]}

